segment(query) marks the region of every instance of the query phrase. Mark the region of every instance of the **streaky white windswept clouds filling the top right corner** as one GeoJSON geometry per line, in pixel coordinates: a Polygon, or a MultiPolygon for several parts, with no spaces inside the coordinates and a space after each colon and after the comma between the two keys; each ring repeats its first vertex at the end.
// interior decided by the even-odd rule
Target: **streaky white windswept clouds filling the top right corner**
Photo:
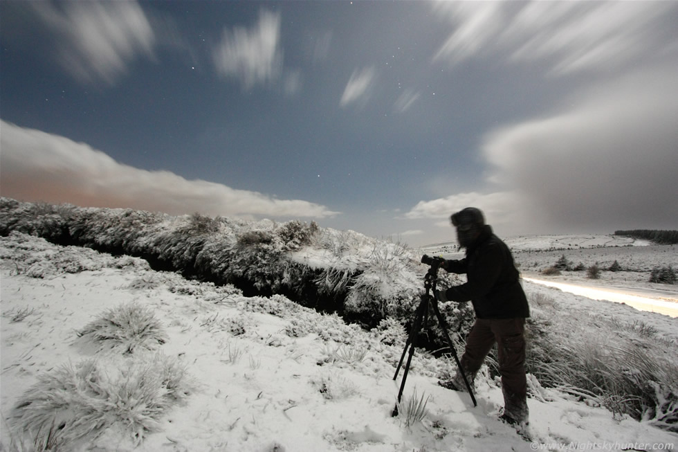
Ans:
{"type": "MultiPolygon", "coordinates": [[[[556,74],[604,71],[674,46],[673,2],[443,2],[454,27],[433,60],[546,61],[556,74]]],[[[649,55],[649,56],[648,56],[649,55]]]]}

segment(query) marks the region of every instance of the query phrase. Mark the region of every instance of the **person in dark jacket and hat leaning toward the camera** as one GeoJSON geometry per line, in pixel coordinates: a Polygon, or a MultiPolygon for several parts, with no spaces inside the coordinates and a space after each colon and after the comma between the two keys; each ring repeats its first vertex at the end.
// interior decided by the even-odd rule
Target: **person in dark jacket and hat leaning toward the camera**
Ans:
{"type": "MultiPolygon", "coordinates": [[[[470,300],[473,303],[476,319],[466,338],[461,368],[472,383],[488,352],[497,343],[504,394],[504,413],[500,418],[508,424],[526,426],[529,410],[524,327],[530,311],[513,255],[494,235],[491,226],[485,224],[481,210],[468,207],[450,219],[457,228],[459,246],[466,248],[466,257],[442,260],[440,267],[451,273],[466,273],[467,282],[436,291],[435,296],[441,302],[470,300]]],[[[440,384],[453,390],[466,390],[459,370],[451,380],[440,384]]]]}

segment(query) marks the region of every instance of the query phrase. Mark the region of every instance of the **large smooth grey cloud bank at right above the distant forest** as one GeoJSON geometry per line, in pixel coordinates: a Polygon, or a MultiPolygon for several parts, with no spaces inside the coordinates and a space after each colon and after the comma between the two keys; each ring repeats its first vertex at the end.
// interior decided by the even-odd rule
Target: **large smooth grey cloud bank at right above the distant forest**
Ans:
{"type": "Polygon", "coordinates": [[[675,227],[675,80],[675,67],[628,75],[490,134],[491,180],[528,199],[551,228],[675,227]]]}

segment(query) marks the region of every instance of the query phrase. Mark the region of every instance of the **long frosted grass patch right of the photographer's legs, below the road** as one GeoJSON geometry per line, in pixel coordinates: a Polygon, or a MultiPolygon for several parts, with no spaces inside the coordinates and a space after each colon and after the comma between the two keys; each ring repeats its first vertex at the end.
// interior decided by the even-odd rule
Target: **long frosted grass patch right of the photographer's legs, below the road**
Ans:
{"type": "Polygon", "coordinates": [[[661,356],[672,345],[656,329],[641,321],[571,316],[542,297],[531,301],[528,367],[542,385],[589,399],[614,417],[678,431],[678,366],[661,356]]]}

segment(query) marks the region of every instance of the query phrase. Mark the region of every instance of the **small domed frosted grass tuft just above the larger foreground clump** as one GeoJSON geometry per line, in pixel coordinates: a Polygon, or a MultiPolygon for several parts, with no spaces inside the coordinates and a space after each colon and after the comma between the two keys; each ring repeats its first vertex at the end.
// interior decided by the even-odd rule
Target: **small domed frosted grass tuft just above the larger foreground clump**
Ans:
{"type": "Polygon", "coordinates": [[[134,302],[105,311],[78,336],[99,345],[100,350],[111,348],[123,353],[134,353],[138,348],[153,350],[167,341],[165,329],[153,312],[134,302]]]}

